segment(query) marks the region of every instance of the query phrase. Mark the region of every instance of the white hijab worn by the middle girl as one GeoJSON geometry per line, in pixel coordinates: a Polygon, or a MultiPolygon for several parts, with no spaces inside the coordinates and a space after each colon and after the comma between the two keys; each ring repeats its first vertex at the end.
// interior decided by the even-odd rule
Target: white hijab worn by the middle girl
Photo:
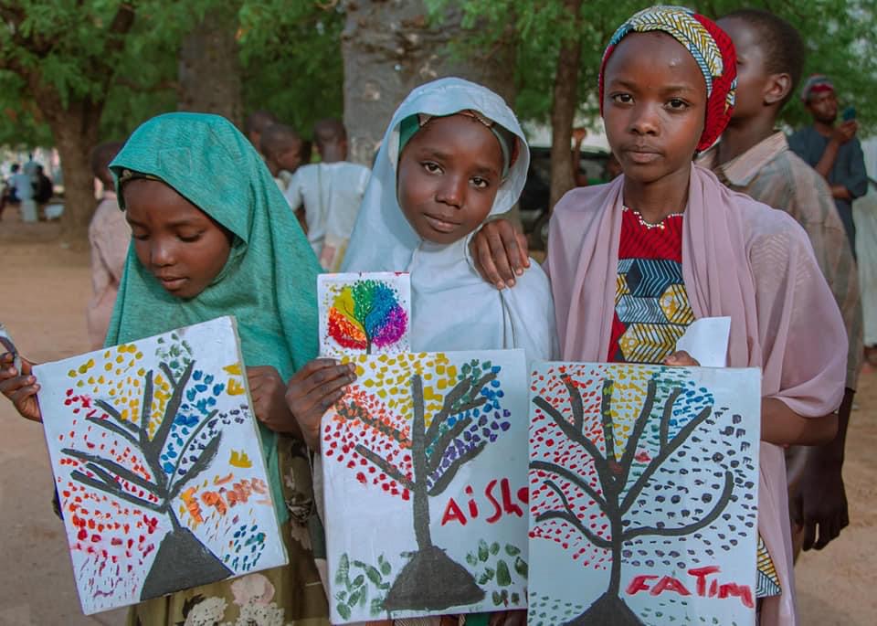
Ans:
{"type": "MultiPolygon", "coordinates": [[[[413,90],[396,109],[375,159],[343,271],[409,271],[412,348],[416,351],[523,348],[528,359],[556,353],[551,287],[536,263],[514,289],[498,292],[475,271],[469,237],[448,245],[420,239],[396,197],[399,124],[416,113],[442,117],[478,111],[516,136],[517,159],[502,181],[491,216],[508,211],[523,190],[530,153],[521,125],[502,98],[456,78],[413,90]]],[[[511,146],[510,146],[511,150],[511,146]]],[[[513,152],[513,151],[512,151],[513,152]]]]}

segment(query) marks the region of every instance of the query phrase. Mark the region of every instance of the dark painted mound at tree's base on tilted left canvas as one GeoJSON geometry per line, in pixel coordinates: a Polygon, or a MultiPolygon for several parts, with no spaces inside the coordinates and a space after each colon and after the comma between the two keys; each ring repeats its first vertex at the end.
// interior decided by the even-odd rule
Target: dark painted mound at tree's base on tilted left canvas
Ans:
{"type": "Polygon", "coordinates": [[[198,541],[188,528],[177,528],[162,539],[140,599],[191,589],[228,578],[234,572],[198,541]]]}

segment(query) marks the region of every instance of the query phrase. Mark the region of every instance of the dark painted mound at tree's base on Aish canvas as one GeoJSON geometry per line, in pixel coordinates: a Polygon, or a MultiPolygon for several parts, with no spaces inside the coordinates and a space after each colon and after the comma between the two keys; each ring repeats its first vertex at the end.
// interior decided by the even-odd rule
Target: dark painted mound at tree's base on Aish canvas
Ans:
{"type": "Polygon", "coordinates": [[[386,594],[384,608],[395,610],[443,610],[484,599],[469,570],[451,559],[440,547],[417,552],[399,572],[386,594]]]}

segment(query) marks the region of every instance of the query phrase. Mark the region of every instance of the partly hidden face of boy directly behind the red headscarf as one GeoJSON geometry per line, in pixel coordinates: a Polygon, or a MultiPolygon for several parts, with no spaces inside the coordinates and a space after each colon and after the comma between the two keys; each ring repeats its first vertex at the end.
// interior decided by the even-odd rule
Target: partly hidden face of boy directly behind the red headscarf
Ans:
{"type": "Polygon", "coordinates": [[[731,119],[748,120],[764,110],[765,90],[771,75],[765,65],[765,50],[755,28],[738,17],[718,21],[737,51],[737,91],[731,119]]]}

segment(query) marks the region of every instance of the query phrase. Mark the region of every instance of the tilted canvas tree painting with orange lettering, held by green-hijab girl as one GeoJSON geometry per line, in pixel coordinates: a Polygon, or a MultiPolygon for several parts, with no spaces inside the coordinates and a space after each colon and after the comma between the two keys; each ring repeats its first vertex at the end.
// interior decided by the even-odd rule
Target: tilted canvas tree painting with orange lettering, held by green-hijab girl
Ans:
{"type": "Polygon", "coordinates": [[[286,562],[233,318],[35,372],[86,614],[286,562]]]}

